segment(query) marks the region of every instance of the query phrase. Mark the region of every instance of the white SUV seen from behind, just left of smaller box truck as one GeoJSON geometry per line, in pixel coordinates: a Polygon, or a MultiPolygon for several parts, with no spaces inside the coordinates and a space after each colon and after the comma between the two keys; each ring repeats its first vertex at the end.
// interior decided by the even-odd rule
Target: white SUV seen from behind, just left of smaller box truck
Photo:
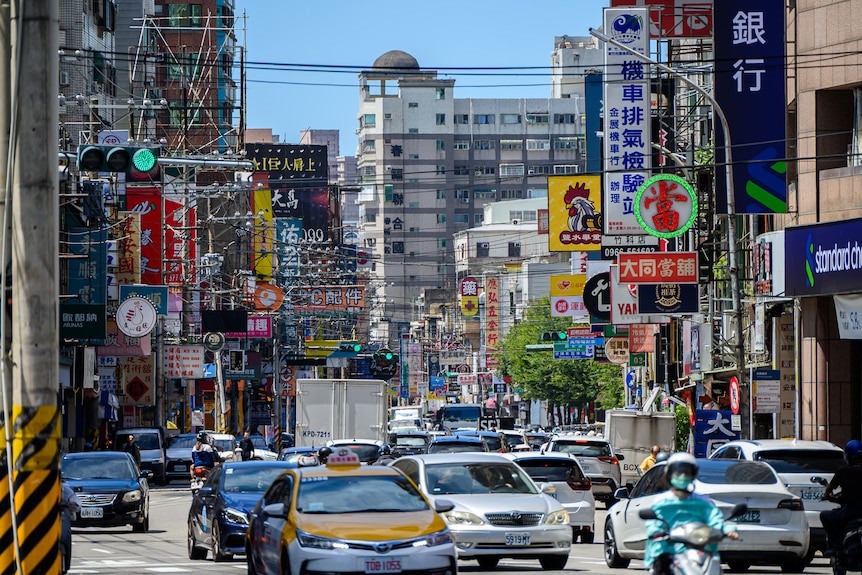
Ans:
{"type": "Polygon", "coordinates": [[[606,507],[613,505],[614,491],[620,487],[622,472],[619,460],[623,456],[614,455],[607,439],[592,435],[555,435],[542,446],[541,451],[559,451],[575,456],[592,482],[593,496],[603,501],[606,507]]]}

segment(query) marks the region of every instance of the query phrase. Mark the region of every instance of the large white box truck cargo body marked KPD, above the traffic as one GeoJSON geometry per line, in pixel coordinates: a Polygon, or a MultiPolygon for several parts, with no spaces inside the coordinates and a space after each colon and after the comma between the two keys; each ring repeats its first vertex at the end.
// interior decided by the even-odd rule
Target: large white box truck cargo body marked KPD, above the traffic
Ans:
{"type": "Polygon", "coordinates": [[[334,439],[386,440],[387,384],[380,379],[297,379],[296,446],[334,439]]]}

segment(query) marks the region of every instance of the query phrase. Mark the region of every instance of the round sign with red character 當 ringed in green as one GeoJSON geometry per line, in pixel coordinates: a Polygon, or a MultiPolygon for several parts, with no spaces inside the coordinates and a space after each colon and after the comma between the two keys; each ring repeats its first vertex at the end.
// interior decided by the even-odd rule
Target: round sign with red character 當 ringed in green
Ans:
{"type": "Polygon", "coordinates": [[[635,194],[635,217],[650,235],[675,238],[688,231],[694,223],[697,194],[679,176],[653,176],[635,194]]]}

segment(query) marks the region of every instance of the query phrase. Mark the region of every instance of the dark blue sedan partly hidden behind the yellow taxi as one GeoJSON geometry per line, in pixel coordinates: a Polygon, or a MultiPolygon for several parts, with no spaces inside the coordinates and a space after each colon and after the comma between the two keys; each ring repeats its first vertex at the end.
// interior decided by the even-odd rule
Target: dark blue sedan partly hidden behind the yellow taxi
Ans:
{"type": "Polygon", "coordinates": [[[192,497],[188,518],[189,559],[228,561],[245,553],[251,510],[285,469],[287,461],[237,461],[217,466],[192,497]]]}

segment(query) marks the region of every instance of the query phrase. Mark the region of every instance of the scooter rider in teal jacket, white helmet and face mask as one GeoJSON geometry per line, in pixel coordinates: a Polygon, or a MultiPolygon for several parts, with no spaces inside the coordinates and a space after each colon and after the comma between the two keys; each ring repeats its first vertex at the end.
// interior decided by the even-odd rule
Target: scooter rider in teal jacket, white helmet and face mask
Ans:
{"type": "MultiPolygon", "coordinates": [[[[664,478],[670,488],[653,504],[658,519],[647,521],[647,545],[644,554],[644,566],[652,569],[653,575],[670,574],[673,555],[684,551],[680,543],[659,541],[656,535],[666,533],[674,527],[691,522],[705,523],[715,529],[720,529],[727,537],[738,539],[739,534],[732,523],[725,523],[724,515],[709,497],[694,492],[694,480],[697,478],[699,466],[697,460],[689,453],[674,453],[667,459],[664,478]]],[[[716,553],[717,544],[707,547],[707,551],[716,553]]]]}

